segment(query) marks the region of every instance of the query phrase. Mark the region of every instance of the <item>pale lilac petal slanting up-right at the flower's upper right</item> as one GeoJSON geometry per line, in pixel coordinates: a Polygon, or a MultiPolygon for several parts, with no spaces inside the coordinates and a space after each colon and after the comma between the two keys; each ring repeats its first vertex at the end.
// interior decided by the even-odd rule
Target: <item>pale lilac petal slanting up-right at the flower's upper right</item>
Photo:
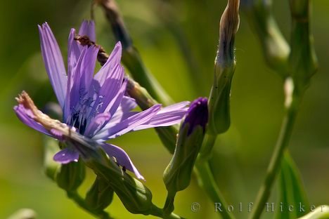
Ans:
{"type": "Polygon", "coordinates": [[[117,67],[118,64],[120,64],[121,61],[121,55],[122,55],[122,46],[120,41],[115,45],[115,48],[113,49],[110,57],[108,58],[108,61],[101,67],[99,72],[95,74],[94,79],[98,81],[100,86],[103,86],[106,79],[108,79],[108,74],[113,72],[112,70],[117,67]]]}

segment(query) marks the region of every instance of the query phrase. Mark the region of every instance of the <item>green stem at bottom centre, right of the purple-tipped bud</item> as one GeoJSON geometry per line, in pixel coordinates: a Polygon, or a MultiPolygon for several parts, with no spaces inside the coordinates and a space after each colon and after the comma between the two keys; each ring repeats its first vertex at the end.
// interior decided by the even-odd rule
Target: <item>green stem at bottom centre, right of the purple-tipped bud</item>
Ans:
{"type": "Polygon", "coordinates": [[[216,211],[221,215],[224,219],[232,219],[234,215],[227,211],[226,201],[221,194],[221,191],[217,187],[216,181],[214,179],[214,175],[209,166],[209,161],[207,160],[198,160],[195,164],[195,168],[198,171],[198,178],[200,183],[202,184],[203,189],[207,192],[214,203],[220,203],[220,208],[217,208],[216,211]]]}

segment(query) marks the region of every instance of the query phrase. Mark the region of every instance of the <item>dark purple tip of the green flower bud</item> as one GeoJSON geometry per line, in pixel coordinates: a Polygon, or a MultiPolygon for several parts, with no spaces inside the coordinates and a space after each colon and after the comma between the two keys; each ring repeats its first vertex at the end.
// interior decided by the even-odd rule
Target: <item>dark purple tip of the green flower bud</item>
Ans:
{"type": "Polygon", "coordinates": [[[188,112],[186,113],[186,118],[183,121],[183,126],[186,124],[190,124],[188,128],[188,135],[193,132],[193,129],[196,126],[202,126],[203,131],[205,131],[205,126],[208,122],[208,100],[207,98],[198,98],[195,99],[190,108],[188,108],[188,112]]]}

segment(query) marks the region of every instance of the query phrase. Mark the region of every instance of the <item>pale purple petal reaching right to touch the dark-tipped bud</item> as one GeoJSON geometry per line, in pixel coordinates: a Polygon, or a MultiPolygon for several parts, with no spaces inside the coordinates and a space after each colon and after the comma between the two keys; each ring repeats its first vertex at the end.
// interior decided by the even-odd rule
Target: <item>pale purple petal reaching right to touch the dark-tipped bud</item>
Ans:
{"type": "Polygon", "coordinates": [[[154,117],[152,117],[152,119],[147,121],[145,124],[141,124],[141,126],[134,128],[134,131],[179,124],[188,111],[188,107],[186,107],[186,105],[189,103],[190,102],[188,101],[184,101],[162,108],[159,112],[157,112],[157,114],[155,114],[154,117]]]}

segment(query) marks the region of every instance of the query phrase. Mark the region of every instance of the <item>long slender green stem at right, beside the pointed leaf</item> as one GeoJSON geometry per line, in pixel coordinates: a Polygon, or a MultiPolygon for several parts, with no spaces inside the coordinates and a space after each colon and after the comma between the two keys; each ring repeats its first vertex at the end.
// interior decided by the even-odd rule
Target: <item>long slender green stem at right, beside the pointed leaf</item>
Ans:
{"type": "Polygon", "coordinates": [[[255,209],[252,211],[251,219],[257,219],[262,215],[262,211],[266,204],[267,199],[271,194],[272,185],[276,179],[276,175],[278,175],[278,171],[280,171],[280,164],[283,159],[283,155],[285,150],[288,147],[290,136],[292,134],[292,129],[295,124],[295,119],[297,116],[297,105],[290,105],[287,110],[287,114],[285,115],[285,119],[283,120],[283,124],[281,126],[280,135],[278,141],[276,143],[276,147],[274,149],[273,155],[271,157],[271,161],[269,163],[269,167],[267,169],[266,177],[262,187],[260,187],[259,192],[257,194],[257,199],[255,201],[255,209]]]}

